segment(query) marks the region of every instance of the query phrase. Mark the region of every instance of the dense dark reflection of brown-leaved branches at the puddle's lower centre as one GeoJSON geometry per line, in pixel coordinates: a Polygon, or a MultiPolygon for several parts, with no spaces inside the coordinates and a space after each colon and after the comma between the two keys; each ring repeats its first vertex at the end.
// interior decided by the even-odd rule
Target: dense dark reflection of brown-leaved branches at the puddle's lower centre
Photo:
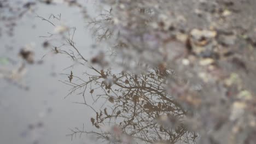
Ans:
{"type": "Polygon", "coordinates": [[[84,88],[83,104],[95,111],[95,117],[90,120],[100,130],[73,129],[72,137],[85,133],[110,142],[195,142],[197,135],[189,131],[183,121],[187,111],[165,92],[166,76],[173,75],[174,78],[171,70],[162,73],[154,69],[136,75],[128,71],[113,74],[112,70],[91,69],[94,74],[86,73],[88,81],[73,76],[71,72],[69,82],[66,82],[72,86],[71,93],[84,88]],[[102,109],[94,109],[93,105],[86,103],[86,90],[96,105],[101,104],[102,99],[107,100],[102,109]]]}

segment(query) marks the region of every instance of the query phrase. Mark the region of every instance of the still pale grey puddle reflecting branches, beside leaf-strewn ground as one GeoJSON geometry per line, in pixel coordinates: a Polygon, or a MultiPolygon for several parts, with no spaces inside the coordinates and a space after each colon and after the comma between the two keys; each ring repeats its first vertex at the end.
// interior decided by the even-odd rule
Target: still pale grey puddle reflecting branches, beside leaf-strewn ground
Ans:
{"type": "MultiPolygon", "coordinates": [[[[96,14],[94,2],[88,2],[86,8],[90,15],[96,14]]],[[[132,139],[144,143],[153,142],[157,141],[160,135],[166,140],[182,143],[179,141],[180,137],[185,134],[194,135],[187,133],[183,124],[174,118],[182,117],[185,112],[165,93],[165,80],[158,70],[153,69],[139,76],[131,72],[119,73],[117,69],[101,71],[100,68],[92,69],[86,64],[74,63],[70,57],[56,53],[59,47],[53,50],[50,49],[53,47],[43,47],[45,40],[49,40],[50,44],[56,47],[64,41],[61,37],[46,37],[48,32],[54,31],[54,27],[37,15],[48,19],[51,14],[61,14],[61,22],[51,17],[50,20],[54,23],[76,28],[75,46],[85,59],[90,60],[98,53],[92,46],[95,44],[94,35],[91,35],[90,29],[86,27],[83,15],[78,9],[65,5],[38,5],[35,11],[19,20],[14,37],[3,35],[0,38],[0,72],[9,75],[8,70],[21,68],[24,60],[18,53],[27,44],[33,47],[36,63],[26,63],[27,73],[24,72],[25,75],[19,80],[10,80],[4,76],[0,79],[1,143],[95,142],[91,140],[92,137],[86,137],[84,134],[79,137],[79,132],[73,137],[68,135],[79,130],[101,130],[99,134],[104,135],[100,135],[100,138],[112,142],[123,139],[122,141],[127,143],[135,143],[132,139]],[[69,67],[73,64],[75,67],[69,67]],[[84,87],[66,97],[71,88],[67,84],[83,83],[83,80],[77,77],[73,77],[73,80],[68,77],[71,76],[71,70],[72,74],[85,81],[96,79],[91,82],[92,86],[89,83],[84,99],[80,93],[84,87]],[[90,97],[91,95],[94,97],[90,97]],[[84,103],[84,100],[87,106],[75,103],[84,103]],[[165,117],[161,118],[161,115],[165,117]],[[170,115],[173,117],[167,117],[170,115]],[[121,125],[123,129],[116,124],[121,125]],[[110,134],[107,135],[106,131],[110,134]],[[123,132],[130,133],[133,137],[123,132]]],[[[66,51],[69,49],[63,48],[66,51]]]]}

